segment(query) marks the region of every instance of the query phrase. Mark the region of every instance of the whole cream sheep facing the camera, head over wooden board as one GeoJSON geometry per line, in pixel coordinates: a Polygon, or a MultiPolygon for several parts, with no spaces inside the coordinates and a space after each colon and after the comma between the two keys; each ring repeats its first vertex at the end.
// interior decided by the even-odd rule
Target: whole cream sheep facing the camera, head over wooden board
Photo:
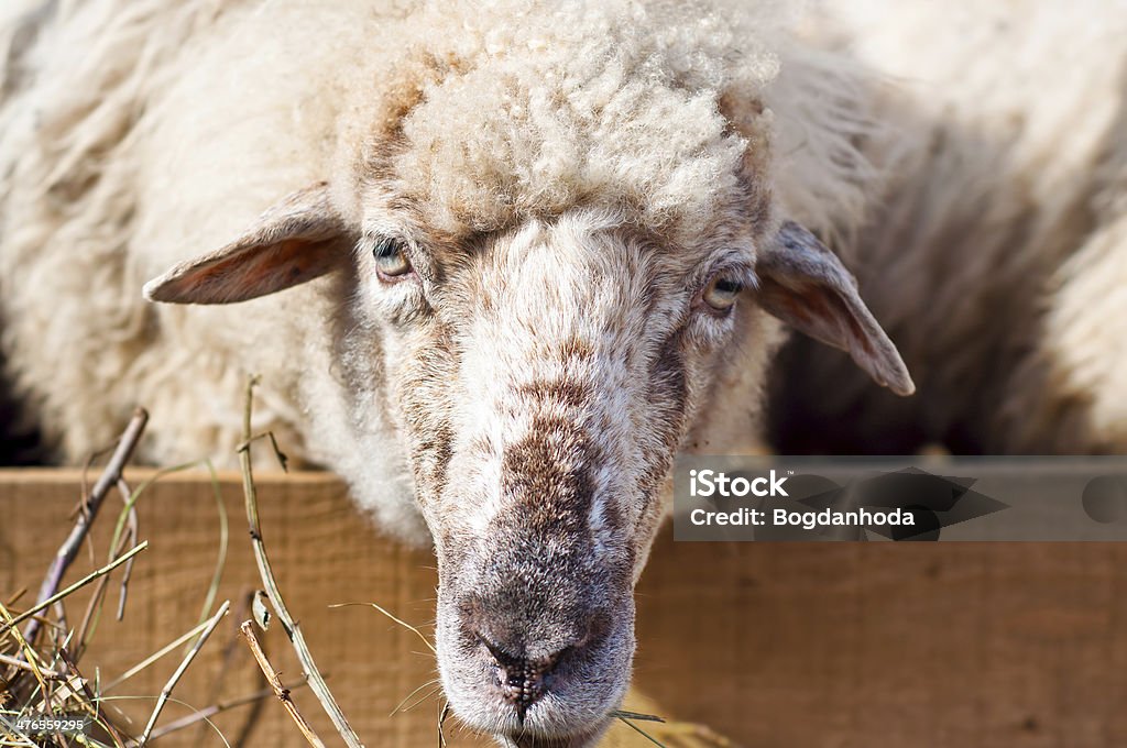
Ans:
{"type": "Polygon", "coordinates": [[[78,458],[141,402],[144,458],[222,455],[261,373],[256,429],[434,544],[443,687],[502,745],[605,730],[674,455],[754,431],[784,323],[913,389],[815,238],[879,188],[863,73],[772,5],[17,23],[0,317],[45,436],[78,458]]]}

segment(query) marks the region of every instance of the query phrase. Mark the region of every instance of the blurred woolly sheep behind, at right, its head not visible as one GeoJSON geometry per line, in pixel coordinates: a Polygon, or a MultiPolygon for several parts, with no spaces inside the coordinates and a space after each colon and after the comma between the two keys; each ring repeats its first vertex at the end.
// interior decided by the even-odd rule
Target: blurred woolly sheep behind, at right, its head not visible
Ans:
{"type": "Polygon", "coordinates": [[[919,392],[869,391],[796,338],[777,448],[1127,453],[1127,3],[859,0],[822,19],[884,77],[886,132],[862,150],[889,179],[835,248],[919,392]]]}

